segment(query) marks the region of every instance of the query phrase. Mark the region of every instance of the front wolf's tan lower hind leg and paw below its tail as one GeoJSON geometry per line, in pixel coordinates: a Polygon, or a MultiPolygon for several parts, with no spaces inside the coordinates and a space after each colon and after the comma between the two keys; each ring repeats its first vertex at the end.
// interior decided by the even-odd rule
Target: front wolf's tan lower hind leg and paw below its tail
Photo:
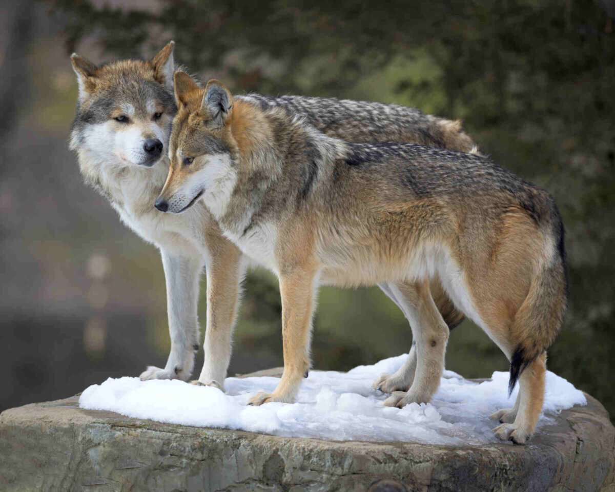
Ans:
{"type": "Polygon", "coordinates": [[[504,423],[493,429],[502,440],[525,444],[536,429],[544,401],[546,362],[547,354],[543,352],[519,376],[519,396],[517,397],[519,405],[515,420],[513,423],[504,423]]]}

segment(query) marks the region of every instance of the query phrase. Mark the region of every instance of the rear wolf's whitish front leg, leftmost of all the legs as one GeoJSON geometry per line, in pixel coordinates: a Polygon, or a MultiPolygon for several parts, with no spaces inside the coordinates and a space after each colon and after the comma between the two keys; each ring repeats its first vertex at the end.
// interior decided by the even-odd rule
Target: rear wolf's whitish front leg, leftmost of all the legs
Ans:
{"type": "Polygon", "coordinates": [[[199,277],[204,261],[198,256],[177,256],[161,249],[167,283],[167,314],[171,352],[164,369],[149,366],[140,376],[146,379],[183,379],[194,367],[194,352],[199,349],[199,277]]]}

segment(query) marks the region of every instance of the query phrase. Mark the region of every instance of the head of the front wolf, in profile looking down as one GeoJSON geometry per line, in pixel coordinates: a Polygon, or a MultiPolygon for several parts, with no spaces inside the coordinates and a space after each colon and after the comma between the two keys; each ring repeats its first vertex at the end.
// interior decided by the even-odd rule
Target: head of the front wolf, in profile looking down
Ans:
{"type": "Polygon", "coordinates": [[[236,182],[239,152],[232,132],[233,98],[221,82],[200,88],[185,72],[175,73],[177,116],[169,143],[170,169],[156,200],[161,212],[180,213],[205,194],[215,214],[236,182]]]}

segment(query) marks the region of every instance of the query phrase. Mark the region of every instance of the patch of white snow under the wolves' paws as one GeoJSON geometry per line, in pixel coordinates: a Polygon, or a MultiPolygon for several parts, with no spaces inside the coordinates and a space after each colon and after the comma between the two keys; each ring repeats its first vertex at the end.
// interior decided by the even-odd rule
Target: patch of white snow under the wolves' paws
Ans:
{"type": "MultiPolygon", "coordinates": [[[[207,386],[177,379],[140,381],[107,379],[81,394],[79,407],[110,410],[125,416],[197,427],[226,427],[266,434],[326,440],[418,441],[478,445],[498,442],[491,431],[498,423],[489,418],[510,408],[517,397],[507,397],[508,373],[494,372],[490,381],[477,383],[453,371],[444,371],[440,389],[431,403],[384,407],[386,399],[371,388],[381,373],[394,373],[407,355],[375,365],[355,367],[347,373],[311,371],[303,380],[296,403],[247,406],[258,391],[272,392],[279,378],[228,378],[226,394],[207,386]]],[[[583,393],[547,371],[546,395],[538,426],[552,421],[549,414],[573,405],[586,405],[583,393]]]]}

